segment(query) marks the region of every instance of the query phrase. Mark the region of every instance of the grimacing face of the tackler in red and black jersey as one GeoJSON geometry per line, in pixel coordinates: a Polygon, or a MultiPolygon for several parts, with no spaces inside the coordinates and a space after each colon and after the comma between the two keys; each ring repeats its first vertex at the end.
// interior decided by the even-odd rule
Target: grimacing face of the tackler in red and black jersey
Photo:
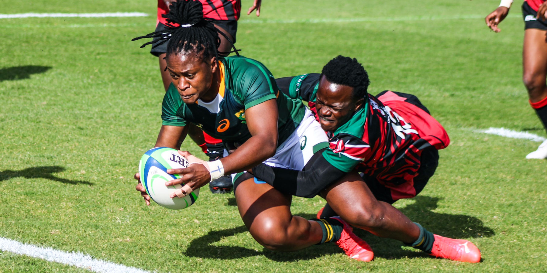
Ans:
{"type": "Polygon", "coordinates": [[[354,101],[352,93],[351,86],[331,83],[324,76],[319,79],[315,107],[323,130],[334,132],[351,119],[363,103],[354,101]]]}

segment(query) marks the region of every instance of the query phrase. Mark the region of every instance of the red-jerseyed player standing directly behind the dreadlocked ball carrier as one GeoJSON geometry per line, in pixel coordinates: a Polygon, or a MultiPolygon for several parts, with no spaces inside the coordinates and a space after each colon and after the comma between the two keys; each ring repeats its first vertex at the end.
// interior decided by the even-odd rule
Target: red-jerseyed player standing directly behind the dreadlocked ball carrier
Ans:
{"type": "MultiPolygon", "coordinates": [[[[177,0],[158,0],[158,19],[156,22],[156,30],[166,30],[167,22],[162,15],[169,12],[169,6],[177,0]]],[[[222,31],[232,43],[236,42],[237,32],[237,20],[240,18],[241,13],[241,0],[200,0],[203,4],[203,16],[205,18],[213,19],[213,25],[222,31]]],[[[257,16],[260,15],[260,5],[262,0],[254,0],[253,5],[247,11],[247,15],[251,14],[253,10],[256,10],[257,16]]],[[[230,51],[230,42],[222,35],[219,35],[220,45],[218,51],[227,56],[230,51]]],[[[156,39],[157,40],[157,39],[156,39]]],[[[156,44],[154,44],[156,45],[156,44]]],[[[161,79],[164,83],[164,88],[167,90],[171,84],[171,75],[165,69],[167,64],[165,61],[167,43],[153,46],[150,53],[154,56],[158,56],[160,63],[161,79]]],[[[189,125],[188,135],[190,138],[203,150],[209,157],[210,161],[222,158],[224,147],[222,141],[207,135],[195,125],[189,125]]],[[[232,189],[232,181],[228,176],[223,176],[215,179],[209,184],[209,189],[212,193],[227,193],[232,189]]]]}

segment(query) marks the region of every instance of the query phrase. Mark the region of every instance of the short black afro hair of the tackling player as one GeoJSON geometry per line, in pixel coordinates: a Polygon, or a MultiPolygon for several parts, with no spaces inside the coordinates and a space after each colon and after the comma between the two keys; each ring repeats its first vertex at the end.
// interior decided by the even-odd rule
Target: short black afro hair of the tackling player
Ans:
{"type": "Polygon", "coordinates": [[[331,83],[352,87],[354,100],[359,100],[367,94],[369,75],[355,58],[338,55],[323,66],[321,74],[331,83]]]}

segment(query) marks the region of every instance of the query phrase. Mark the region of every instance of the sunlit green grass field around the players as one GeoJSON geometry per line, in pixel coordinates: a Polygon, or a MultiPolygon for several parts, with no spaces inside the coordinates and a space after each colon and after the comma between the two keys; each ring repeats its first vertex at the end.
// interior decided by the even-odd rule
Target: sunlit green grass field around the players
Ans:
{"type": "MultiPolygon", "coordinates": [[[[246,10],[252,1],[243,1],[246,10]]],[[[538,142],[487,135],[505,127],[545,136],[521,82],[523,22],[515,2],[502,32],[496,1],[264,1],[242,15],[236,46],[275,77],[320,72],[338,54],[369,72],[369,91],[420,97],[451,144],[414,200],[395,203],[434,233],[468,239],[480,264],[434,259],[365,232],[371,263],[335,245],[271,252],[247,232],[233,195],[145,206],[135,191],[155,142],[164,94],[158,60],[131,38],[153,31],[155,1],[2,1],[0,13],[144,12],[139,18],[0,19],[0,237],[82,252],[157,272],[544,272],[546,162],[538,142]]],[[[184,149],[199,154],[190,140],[184,149]]],[[[313,217],[324,201],[294,198],[313,217]]],[[[0,272],[88,272],[0,252],[0,272]]]]}

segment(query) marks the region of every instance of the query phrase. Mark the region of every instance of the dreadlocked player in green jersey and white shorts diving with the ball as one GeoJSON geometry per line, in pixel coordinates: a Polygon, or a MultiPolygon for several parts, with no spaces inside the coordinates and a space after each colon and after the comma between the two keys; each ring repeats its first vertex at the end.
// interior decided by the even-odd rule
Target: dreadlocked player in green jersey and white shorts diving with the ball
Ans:
{"type": "MultiPolygon", "coordinates": [[[[162,103],[162,126],[155,147],[179,149],[187,135],[186,125],[193,123],[223,140],[230,150],[230,154],[226,152],[224,158],[216,161],[168,170],[183,177],[166,185],[184,183],[171,198],[180,198],[212,179],[232,174],[238,210],[261,245],[294,251],[335,242],[353,259],[372,259],[368,245],[352,233],[344,220],[293,216],[290,195],[248,173],[238,173],[260,162],[301,170],[317,149],[328,144],[311,111],[300,100],[282,94],[260,62],[239,55],[219,57],[218,35],[223,33],[203,19],[199,1],[179,0],[165,18],[169,24],[180,26],[135,38],[168,41],[166,61],[172,85],[162,103]],[[302,137],[307,139],[305,146],[300,144],[302,137]]],[[[150,43],[153,42],[144,45],[150,43]]],[[[181,154],[195,159],[188,153],[181,154]]],[[[138,173],[135,178],[139,179],[138,173]]],[[[140,181],[136,189],[149,205],[150,197],[140,181]]]]}

